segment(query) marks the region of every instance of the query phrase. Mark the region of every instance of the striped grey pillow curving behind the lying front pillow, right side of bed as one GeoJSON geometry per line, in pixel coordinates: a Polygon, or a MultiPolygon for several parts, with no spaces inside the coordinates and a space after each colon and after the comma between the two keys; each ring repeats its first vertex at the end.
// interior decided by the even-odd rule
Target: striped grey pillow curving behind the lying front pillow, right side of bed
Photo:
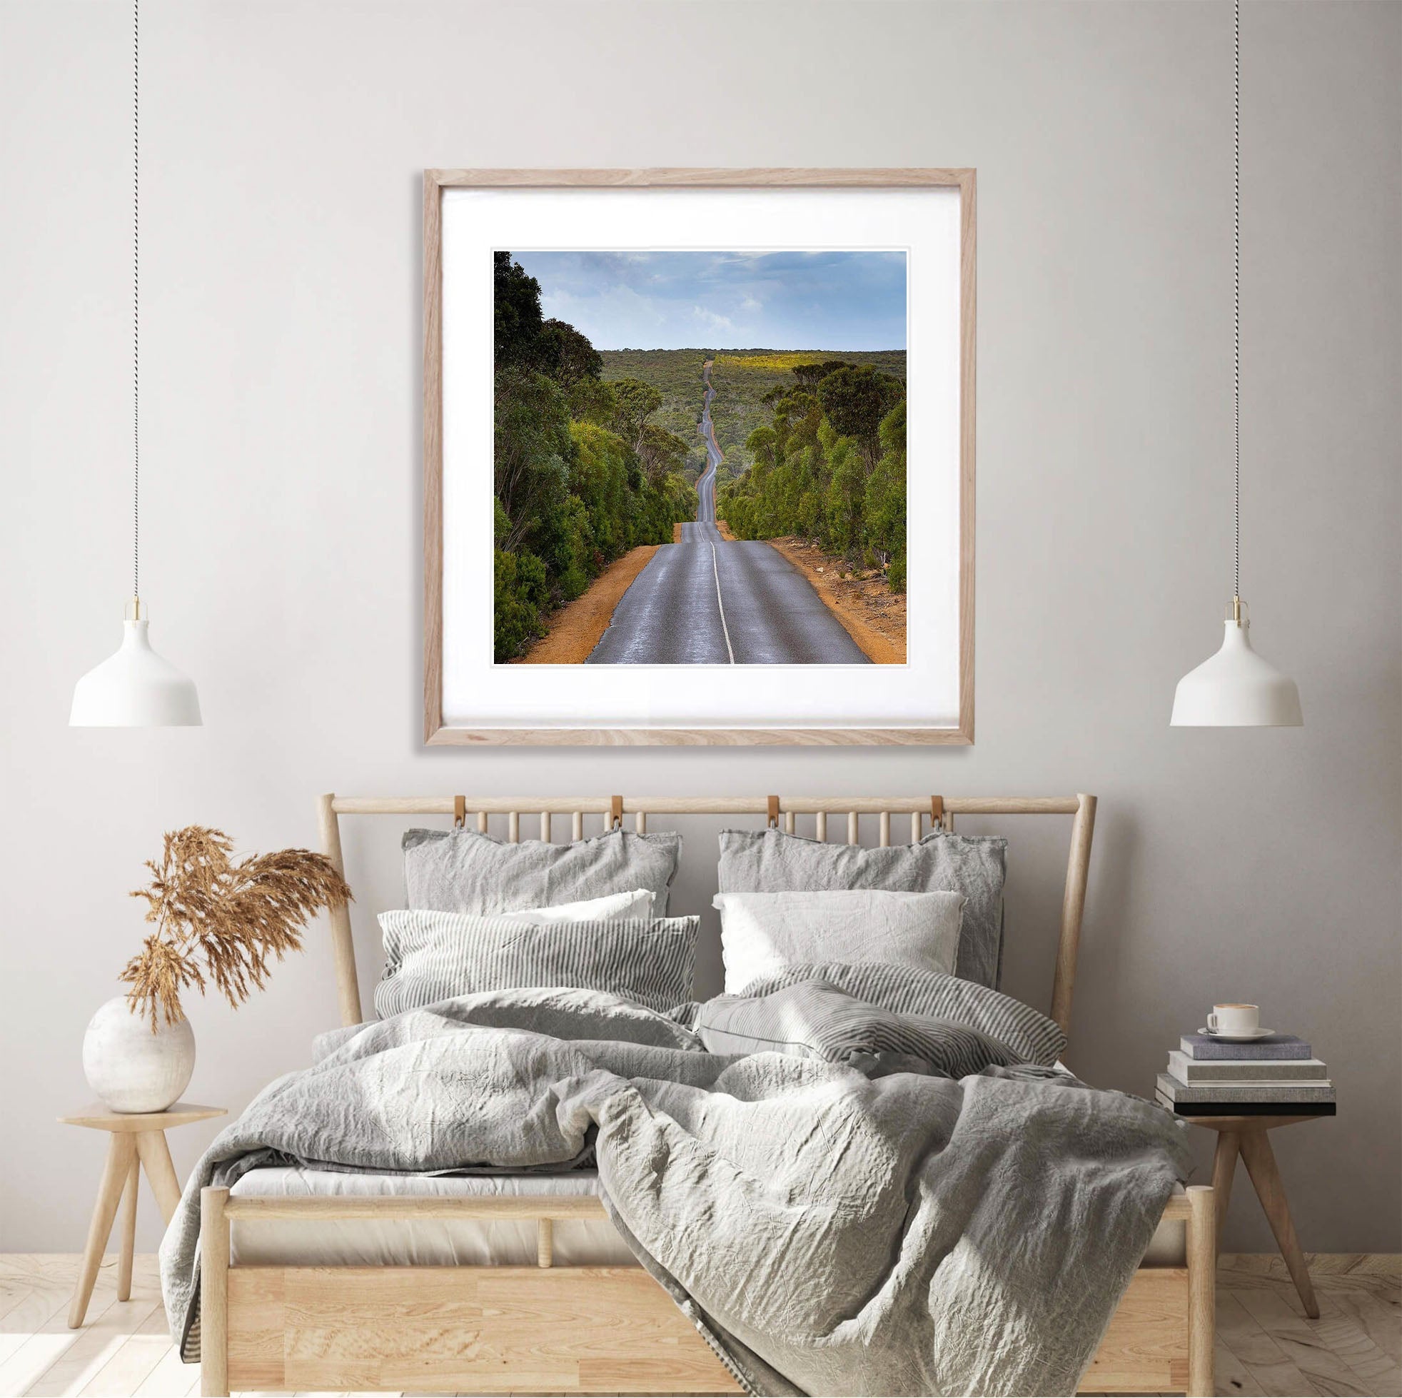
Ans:
{"type": "MultiPolygon", "coordinates": [[[[918,1019],[942,1019],[976,1029],[1012,1050],[1012,1061],[1056,1063],[1066,1047],[1061,1026],[1021,1000],[958,976],[890,966],[885,962],[823,962],[789,966],[777,976],[746,986],[753,1000],[803,980],[824,982],[869,1005],[918,1019]]],[[[715,1001],[712,1001],[715,1004],[715,1001]]],[[[694,1025],[688,1028],[695,1028],[694,1025]]],[[[894,1049],[894,1043],[892,1045],[894,1049]]]]}

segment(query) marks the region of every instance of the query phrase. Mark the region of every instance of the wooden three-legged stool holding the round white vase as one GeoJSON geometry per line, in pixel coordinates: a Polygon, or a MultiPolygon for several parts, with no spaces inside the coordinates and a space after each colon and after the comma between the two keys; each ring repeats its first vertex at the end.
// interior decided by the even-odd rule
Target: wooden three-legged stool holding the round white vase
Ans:
{"type": "Polygon", "coordinates": [[[136,1244],[136,1186],[143,1168],[167,1224],[175,1213],[181,1188],[175,1167],[171,1164],[170,1147],[165,1144],[167,1127],[184,1126],[186,1122],[206,1122],[212,1116],[223,1115],[222,1106],[196,1106],[193,1102],[177,1102],[164,1112],[109,1112],[105,1106],[94,1104],[79,1116],[59,1118],[66,1126],[90,1126],[111,1133],[107,1143],[107,1164],[102,1167],[102,1183],[98,1185],[87,1248],[83,1252],[83,1270],[79,1273],[79,1284],[73,1289],[73,1305],[69,1307],[70,1329],[77,1329],[87,1314],[97,1269],[102,1265],[102,1254],[112,1235],[112,1221],[116,1219],[116,1206],[122,1202],[123,1193],[126,1207],[122,1213],[116,1298],[119,1301],[130,1298],[132,1251],[136,1244]]]}

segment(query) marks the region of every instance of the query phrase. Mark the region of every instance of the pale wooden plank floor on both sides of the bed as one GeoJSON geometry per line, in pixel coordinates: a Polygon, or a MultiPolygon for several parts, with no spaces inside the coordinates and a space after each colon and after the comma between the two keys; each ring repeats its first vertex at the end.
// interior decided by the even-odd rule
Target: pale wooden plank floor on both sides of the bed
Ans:
{"type": "MultiPolygon", "coordinates": [[[[156,1258],[136,1259],[116,1300],[116,1259],[98,1273],[80,1331],[67,1326],[73,1254],[0,1255],[0,1394],[199,1392],[165,1333],[156,1258]]],[[[1314,1255],[1319,1319],[1305,1318],[1277,1256],[1224,1256],[1218,1272],[1217,1392],[1402,1395],[1402,1258],[1314,1255]]]]}

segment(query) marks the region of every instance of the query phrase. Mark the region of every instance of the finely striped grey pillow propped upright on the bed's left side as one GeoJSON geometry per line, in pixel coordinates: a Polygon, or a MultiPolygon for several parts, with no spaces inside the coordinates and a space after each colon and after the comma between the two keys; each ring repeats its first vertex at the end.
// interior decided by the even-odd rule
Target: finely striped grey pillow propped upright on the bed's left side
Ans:
{"type": "Polygon", "coordinates": [[[571,921],[398,909],[380,914],[381,1019],[484,990],[606,990],[649,1010],[691,997],[697,917],[571,921]]]}

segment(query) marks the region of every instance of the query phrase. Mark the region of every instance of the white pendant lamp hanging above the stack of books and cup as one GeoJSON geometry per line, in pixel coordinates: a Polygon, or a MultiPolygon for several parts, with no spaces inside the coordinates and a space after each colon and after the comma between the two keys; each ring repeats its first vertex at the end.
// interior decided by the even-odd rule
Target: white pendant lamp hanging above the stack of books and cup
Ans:
{"type": "Polygon", "coordinates": [[[1235,496],[1232,506],[1235,571],[1232,599],[1227,606],[1221,649],[1178,681],[1173,694],[1173,728],[1298,728],[1300,691],[1251,648],[1251,618],[1241,600],[1241,0],[1234,4],[1232,22],[1235,203],[1232,222],[1234,255],[1234,358],[1232,358],[1232,440],[1235,496]]]}

